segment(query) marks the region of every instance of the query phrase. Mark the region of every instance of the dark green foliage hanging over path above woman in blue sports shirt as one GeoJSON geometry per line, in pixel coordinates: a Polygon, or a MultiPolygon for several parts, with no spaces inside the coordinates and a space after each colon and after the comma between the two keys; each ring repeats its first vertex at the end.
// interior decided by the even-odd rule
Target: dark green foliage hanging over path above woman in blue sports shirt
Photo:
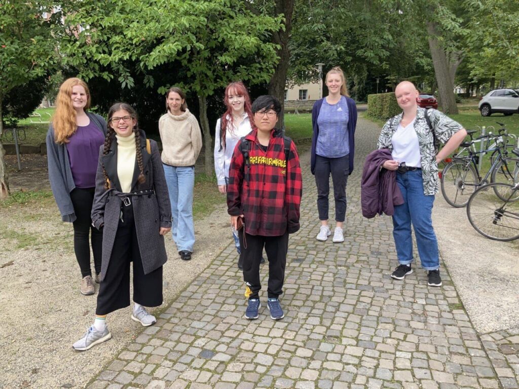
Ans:
{"type": "MultiPolygon", "coordinates": [[[[382,79],[380,89],[393,88],[402,78],[421,81],[431,70],[427,39],[412,22],[402,2],[377,0],[299,0],[294,11],[291,40],[292,84],[317,80],[340,65],[354,98],[364,100],[368,78],[382,79]]],[[[370,82],[372,88],[374,81],[370,82]]]]}

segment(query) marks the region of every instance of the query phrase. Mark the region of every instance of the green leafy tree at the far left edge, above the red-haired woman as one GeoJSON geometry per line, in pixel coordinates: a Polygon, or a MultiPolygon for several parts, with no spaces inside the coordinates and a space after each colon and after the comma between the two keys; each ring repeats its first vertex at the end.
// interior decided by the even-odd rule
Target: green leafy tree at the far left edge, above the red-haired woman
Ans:
{"type": "MultiPolygon", "coordinates": [[[[51,15],[51,1],[0,0],[0,132],[3,131],[3,101],[13,89],[41,78],[59,62],[56,37],[61,13],[51,15]]],[[[0,198],[9,195],[0,141],[0,198]]]]}

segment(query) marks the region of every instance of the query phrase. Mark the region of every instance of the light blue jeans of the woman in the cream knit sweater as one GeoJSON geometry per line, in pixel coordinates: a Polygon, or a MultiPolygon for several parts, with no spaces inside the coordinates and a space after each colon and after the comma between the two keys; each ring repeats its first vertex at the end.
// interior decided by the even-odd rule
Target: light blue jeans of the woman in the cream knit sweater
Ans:
{"type": "Polygon", "coordinates": [[[171,233],[178,251],[193,253],[195,226],[193,225],[193,188],[195,187],[195,166],[170,166],[162,164],[173,224],[171,233]]]}

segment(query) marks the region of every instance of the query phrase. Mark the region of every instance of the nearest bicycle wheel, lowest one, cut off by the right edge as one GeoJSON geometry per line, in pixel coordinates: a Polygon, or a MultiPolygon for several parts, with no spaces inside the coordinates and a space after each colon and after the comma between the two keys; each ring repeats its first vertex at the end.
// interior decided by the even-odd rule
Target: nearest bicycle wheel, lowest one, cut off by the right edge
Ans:
{"type": "Polygon", "coordinates": [[[467,216],[474,229],[496,241],[519,239],[519,201],[515,186],[491,183],[478,188],[467,204],[467,216]],[[495,187],[499,187],[498,190],[495,187]],[[506,196],[502,200],[496,193],[506,196]]]}

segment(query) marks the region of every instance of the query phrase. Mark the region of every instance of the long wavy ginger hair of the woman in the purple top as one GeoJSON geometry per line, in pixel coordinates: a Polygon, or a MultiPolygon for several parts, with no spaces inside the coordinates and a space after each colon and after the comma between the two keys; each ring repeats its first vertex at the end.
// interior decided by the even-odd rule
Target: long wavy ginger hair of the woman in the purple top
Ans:
{"type": "Polygon", "coordinates": [[[54,127],[54,141],[56,143],[69,143],[69,138],[77,130],[76,110],[72,106],[72,87],[80,85],[87,92],[87,105],[85,109],[90,108],[90,91],[85,81],[73,77],[66,79],[60,86],[58,96],[56,98],[56,113],[52,118],[52,127],[54,127]]]}

